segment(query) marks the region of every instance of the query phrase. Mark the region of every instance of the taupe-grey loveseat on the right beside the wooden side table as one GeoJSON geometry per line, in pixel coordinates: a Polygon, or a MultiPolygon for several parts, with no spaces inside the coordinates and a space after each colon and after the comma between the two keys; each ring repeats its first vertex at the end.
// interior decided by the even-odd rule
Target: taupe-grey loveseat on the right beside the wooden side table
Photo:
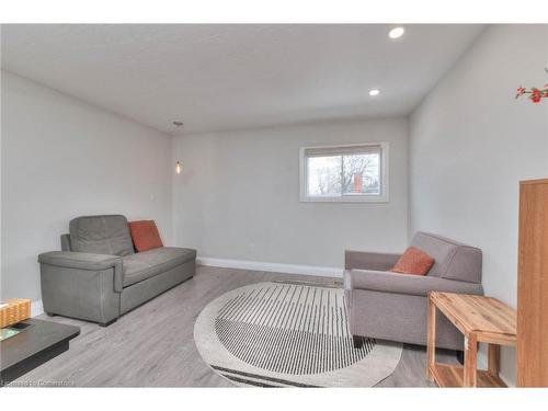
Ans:
{"type": "MultiPolygon", "coordinates": [[[[483,294],[480,249],[425,232],[411,246],[435,259],[425,276],[387,272],[400,254],[346,251],[344,288],[356,346],[362,336],[425,345],[430,292],[483,294]]],[[[437,321],[436,346],[461,351],[461,333],[444,316],[437,321]]]]}

